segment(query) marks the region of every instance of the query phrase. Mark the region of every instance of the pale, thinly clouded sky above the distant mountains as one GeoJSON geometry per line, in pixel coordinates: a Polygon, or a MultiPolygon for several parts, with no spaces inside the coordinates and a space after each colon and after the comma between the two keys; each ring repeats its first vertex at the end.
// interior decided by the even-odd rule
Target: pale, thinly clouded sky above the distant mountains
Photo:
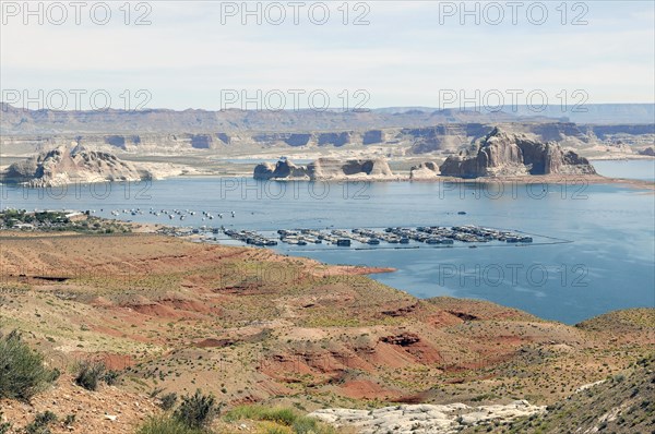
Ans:
{"type": "Polygon", "coordinates": [[[1,7],[0,99],[33,109],[655,101],[650,0],[1,7]]]}

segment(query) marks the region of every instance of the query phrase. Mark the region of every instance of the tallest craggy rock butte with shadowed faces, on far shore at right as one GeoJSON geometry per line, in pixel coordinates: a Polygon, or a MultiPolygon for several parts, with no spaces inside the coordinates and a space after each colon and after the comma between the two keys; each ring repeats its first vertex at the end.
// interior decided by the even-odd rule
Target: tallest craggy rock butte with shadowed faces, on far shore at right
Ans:
{"type": "Polygon", "coordinates": [[[472,149],[448,157],[440,169],[443,176],[461,178],[596,173],[586,158],[557,143],[538,142],[498,128],[472,149]]]}

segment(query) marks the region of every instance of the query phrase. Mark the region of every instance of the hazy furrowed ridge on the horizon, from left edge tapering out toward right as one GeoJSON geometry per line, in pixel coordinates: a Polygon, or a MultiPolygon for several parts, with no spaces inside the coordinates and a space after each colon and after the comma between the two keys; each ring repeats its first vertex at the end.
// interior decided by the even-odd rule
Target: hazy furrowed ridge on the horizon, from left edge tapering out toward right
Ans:
{"type": "MultiPolygon", "coordinates": [[[[428,126],[451,122],[511,122],[519,120],[508,113],[434,110],[407,113],[369,111],[315,110],[239,110],[222,111],[188,109],[61,111],[28,110],[0,104],[2,134],[64,133],[207,133],[207,132],[314,132],[367,130],[370,128],[428,126]]],[[[546,119],[544,119],[546,121],[546,119]]]]}

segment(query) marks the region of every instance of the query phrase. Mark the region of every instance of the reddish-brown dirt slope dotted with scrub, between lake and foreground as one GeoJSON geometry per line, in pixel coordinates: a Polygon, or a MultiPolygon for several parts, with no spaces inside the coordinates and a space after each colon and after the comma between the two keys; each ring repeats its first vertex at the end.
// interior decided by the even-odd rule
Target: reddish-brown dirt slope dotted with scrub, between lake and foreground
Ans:
{"type": "Polygon", "coordinates": [[[654,348],[653,310],[567,326],[418,300],[372,272],[389,270],[152,234],[13,236],[0,249],[0,330],[22,330],[62,371],[104,360],[126,393],[200,387],[227,405],[308,410],[550,403],[654,348]]]}

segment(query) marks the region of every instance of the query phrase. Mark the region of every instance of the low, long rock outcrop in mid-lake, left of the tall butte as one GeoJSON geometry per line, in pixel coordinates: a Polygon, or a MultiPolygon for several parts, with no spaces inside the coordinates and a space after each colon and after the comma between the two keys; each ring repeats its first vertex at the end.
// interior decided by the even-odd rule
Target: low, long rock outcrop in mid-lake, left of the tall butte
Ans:
{"type": "Polygon", "coordinates": [[[261,180],[389,180],[394,174],[383,158],[340,160],[319,158],[307,166],[296,166],[287,159],[263,162],[254,168],[254,179],[261,180]]]}

